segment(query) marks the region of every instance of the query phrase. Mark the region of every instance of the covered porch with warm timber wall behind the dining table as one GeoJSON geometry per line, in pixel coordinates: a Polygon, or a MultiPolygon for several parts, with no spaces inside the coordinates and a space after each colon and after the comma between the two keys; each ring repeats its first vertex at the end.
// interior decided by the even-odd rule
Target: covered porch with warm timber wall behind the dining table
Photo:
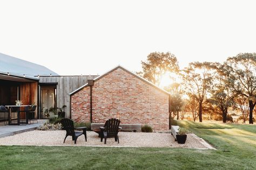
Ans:
{"type": "MultiPolygon", "coordinates": [[[[16,101],[22,101],[23,105],[38,105],[38,79],[9,73],[0,73],[0,105],[16,105],[16,101]]],[[[0,125],[17,123],[17,110],[6,107],[8,112],[0,112],[0,125]]],[[[19,108],[24,110],[24,107],[19,108]]],[[[38,108],[35,110],[37,118],[38,108]]],[[[20,112],[19,118],[26,119],[25,112],[20,112]]]]}

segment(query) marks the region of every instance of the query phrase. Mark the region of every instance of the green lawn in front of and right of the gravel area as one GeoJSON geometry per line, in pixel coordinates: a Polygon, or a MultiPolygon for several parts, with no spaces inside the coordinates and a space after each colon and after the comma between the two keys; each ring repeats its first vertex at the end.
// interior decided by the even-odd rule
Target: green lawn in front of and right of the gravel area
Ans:
{"type": "MultiPolygon", "coordinates": [[[[0,169],[255,169],[256,126],[178,121],[217,150],[0,146],[0,169]]],[[[90,140],[90,139],[89,139],[90,140]]]]}

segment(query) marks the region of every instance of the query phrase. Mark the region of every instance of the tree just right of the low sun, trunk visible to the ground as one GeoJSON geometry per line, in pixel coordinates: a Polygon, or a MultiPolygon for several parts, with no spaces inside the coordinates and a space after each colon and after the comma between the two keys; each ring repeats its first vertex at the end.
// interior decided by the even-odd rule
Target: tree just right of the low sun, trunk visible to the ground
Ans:
{"type": "Polygon", "coordinates": [[[191,62],[183,70],[183,81],[187,95],[195,98],[199,104],[199,122],[203,121],[202,104],[214,76],[214,71],[211,69],[213,66],[214,63],[211,62],[191,62]]]}

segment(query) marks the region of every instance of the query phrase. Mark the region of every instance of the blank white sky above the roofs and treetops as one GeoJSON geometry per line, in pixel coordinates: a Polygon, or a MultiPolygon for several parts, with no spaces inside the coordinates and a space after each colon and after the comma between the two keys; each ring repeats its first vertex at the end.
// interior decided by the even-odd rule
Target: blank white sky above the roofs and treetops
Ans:
{"type": "Polygon", "coordinates": [[[0,53],[60,75],[137,72],[151,52],[181,68],[256,52],[254,1],[0,1],[0,53]]]}

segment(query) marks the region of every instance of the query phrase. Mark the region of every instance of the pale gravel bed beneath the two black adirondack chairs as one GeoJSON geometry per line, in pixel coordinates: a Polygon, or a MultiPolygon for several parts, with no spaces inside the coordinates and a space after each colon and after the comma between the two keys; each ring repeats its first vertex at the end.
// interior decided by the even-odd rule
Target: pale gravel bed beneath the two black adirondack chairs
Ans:
{"type": "Polygon", "coordinates": [[[77,144],[74,144],[72,137],[63,140],[66,131],[29,131],[15,134],[14,136],[0,138],[0,145],[30,145],[30,146],[109,146],[109,147],[186,147],[206,148],[199,138],[191,134],[187,135],[185,144],[178,144],[170,133],[140,133],[140,132],[119,132],[119,144],[114,138],[107,138],[106,145],[100,142],[98,134],[87,131],[87,141],[84,135],[78,137],[77,144]]]}

